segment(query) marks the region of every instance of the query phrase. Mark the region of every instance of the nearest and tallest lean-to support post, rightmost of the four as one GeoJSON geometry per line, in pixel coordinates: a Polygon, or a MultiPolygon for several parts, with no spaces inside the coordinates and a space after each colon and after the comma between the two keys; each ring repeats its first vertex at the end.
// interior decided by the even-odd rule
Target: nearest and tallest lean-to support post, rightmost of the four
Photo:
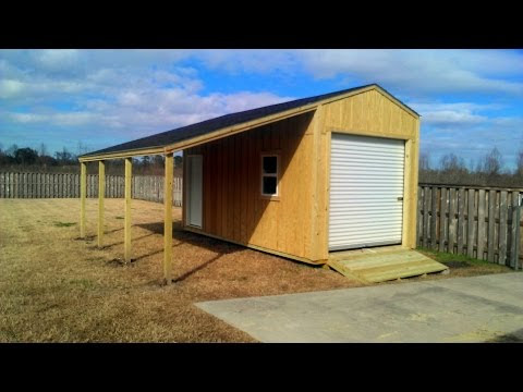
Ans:
{"type": "Polygon", "coordinates": [[[166,155],[166,186],[163,187],[163,203],[166,216],[163,223],[163,278],[166,284],[172,281],[172,175],[174,168],[173,154],[166,155]]]}

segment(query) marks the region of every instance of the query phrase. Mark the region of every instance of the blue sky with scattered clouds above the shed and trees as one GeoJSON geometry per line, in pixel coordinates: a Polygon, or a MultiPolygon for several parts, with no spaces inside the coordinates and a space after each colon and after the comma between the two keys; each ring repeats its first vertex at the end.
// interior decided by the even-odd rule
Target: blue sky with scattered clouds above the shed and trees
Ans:
{"type": "Polygon", "coordinates": [[[78,152],[378,83],[422,114],[423,154],[523,148],[523,50],[0,50],[0,144],[78,152]]]}

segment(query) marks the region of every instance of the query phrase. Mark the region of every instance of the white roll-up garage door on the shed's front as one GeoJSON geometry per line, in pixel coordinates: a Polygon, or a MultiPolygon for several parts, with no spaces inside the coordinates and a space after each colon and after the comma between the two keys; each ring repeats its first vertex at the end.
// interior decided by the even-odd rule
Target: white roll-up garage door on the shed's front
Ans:
{"type": "Polygon", "coordinates": [[[404,148],[332,133],[329,250],[401,244],[404,148]]]}

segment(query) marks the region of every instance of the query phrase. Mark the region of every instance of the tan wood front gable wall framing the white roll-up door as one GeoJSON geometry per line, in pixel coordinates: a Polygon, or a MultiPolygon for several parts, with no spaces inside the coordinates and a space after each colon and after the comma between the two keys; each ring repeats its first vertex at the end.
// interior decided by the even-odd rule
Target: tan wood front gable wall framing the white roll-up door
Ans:
{"type": "Polygon", "coordinates": [[[419,154],[419,119],[379,90],[373,89],[320,107],[318,126],[318,180],[315,187],[323,208],[316,213],[316,259],[328,258],[330,139],[332,132],[405,140],[402,245],[416,246],[417,160],[419,154]]]}

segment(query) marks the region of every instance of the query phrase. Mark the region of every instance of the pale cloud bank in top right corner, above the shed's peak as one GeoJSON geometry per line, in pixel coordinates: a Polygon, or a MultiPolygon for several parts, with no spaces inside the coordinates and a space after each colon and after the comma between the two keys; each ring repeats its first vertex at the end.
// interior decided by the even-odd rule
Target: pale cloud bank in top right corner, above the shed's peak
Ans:
{"type": "Polygon", "coordinates": [[[316,77],[357,77],[384,87],[417,94],[523,94],[523,56],[502,50],[303,50],[306,69],[316,77]]]}

